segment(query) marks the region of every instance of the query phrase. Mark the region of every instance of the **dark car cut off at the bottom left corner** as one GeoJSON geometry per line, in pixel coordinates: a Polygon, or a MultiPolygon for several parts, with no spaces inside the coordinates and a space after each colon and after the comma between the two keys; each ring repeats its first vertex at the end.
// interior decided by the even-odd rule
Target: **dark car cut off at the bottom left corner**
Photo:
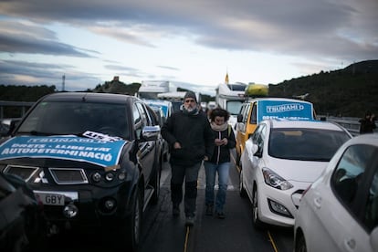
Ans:
{"type": "Polygon", "coordinates": [[[0,173],[0,251],[40,250],[46,231],[43,205],[32,189],[21,178],[0,173]]]}

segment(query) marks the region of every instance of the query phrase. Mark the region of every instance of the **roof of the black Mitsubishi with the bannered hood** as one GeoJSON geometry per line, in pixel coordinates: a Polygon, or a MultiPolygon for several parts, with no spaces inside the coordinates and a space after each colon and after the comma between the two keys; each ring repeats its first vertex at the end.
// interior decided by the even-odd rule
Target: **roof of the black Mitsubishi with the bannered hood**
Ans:
{"type": "Polygon", "coordinates": [[[113,93],[89,93],[89,92],[60,92],[52,93],[41,100],[50,101],[69,101],[69,100],[88,100],[94,102],[107,102],[107,103],[128,103],[131,100],[140,100],[131,95],[113,94],[113,93]]]}

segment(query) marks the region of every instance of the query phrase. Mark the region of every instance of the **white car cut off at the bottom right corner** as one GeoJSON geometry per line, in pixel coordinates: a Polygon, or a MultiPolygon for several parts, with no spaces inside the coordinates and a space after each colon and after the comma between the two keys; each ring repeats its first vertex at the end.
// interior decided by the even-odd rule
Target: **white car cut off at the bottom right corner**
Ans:
{"type": "Polygon", "coordinates": [[[345,142],[303,194],[294,251],[378,251],[378,134],[345,142]]]}

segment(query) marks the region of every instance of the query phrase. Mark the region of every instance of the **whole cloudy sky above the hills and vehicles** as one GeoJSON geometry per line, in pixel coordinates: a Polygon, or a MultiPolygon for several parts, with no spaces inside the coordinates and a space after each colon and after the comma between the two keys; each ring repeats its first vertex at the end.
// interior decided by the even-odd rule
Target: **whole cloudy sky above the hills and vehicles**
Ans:
{"type": "Polygon", "coordinates": [[[277,84],[378,58],[377,0],[0,2],[0,84],[277,84]]]}

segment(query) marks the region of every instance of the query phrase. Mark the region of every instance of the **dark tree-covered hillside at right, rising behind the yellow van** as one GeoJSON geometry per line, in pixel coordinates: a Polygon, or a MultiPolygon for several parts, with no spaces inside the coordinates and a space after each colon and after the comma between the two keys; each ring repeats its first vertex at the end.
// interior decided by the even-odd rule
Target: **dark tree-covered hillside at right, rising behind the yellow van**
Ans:
{"type": "Polygon", "coordinates": [[[270,97],[294,98],[307,93],[305,100],[321,115],[362,117],[366,110],[378,115],[378,60],[269,85],[270,97]]]}

